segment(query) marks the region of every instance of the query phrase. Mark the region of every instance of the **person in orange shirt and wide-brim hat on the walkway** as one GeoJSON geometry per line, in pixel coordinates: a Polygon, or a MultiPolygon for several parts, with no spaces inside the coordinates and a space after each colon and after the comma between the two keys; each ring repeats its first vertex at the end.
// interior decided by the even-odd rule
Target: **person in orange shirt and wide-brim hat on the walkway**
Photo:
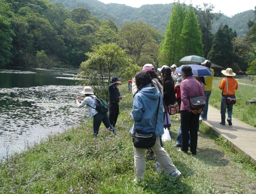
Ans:
{"type": "Polygon", "coordinates": [[[219,85],[219,89],[222,90],[222,97],[221,97],[221,125],[225,125],[226,119],[226,110],[227,110],[227,122],[228,125],[232,125],[232,111],[233,111],[233,104],[227,104],[227,95],[231,97],[235,97],[236,90],[238,89],[238,83],[233,76],[236,73],[233,73],[231,68],[227,68],[226,70],[222,70],[221,73],[226,75],[226,78],[221,80],[221,84],[219,85]],[[227,91],[228,88],[228,91],[227,91]],[[227,93],[228,92],[228,93],[227,93]]]}

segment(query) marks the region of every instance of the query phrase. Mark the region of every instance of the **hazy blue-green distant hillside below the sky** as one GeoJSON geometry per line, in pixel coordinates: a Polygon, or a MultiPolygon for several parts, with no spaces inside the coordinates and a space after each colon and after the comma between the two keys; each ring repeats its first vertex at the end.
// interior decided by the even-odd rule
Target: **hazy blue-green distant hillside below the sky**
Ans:
{"type": "MultiPolygon", "coordinates": [[[[117,26],[122,26],[125,23],[132,21],[144,21],[159,30],[163,34],[166,32],[166,26],[170,18],[173,3],[169,4],[154,4],[143,5],[140,8],[126,6],[118,3],[102,3],[98,0],[50,0],[51,2],[62,2],[67,9],[74,9],[76,7],[85,7],[90,10],[92,15],[98,17],[100,20],[112,19],[117,26]]],[[[214,2],[212,3],[214,5],[214,2]]],[[[186,6],[187,8],[188,6],[186,6]]],[[[237,37],[244,37],[248,31],[247,22],[253,20],[253,10],[238,13],[233,17],[227,17],[221,14],[218,20],[212,24],[212,33],[217,32],[221,24],[227,24],[230,28],[236,31],[237,37]]]]}

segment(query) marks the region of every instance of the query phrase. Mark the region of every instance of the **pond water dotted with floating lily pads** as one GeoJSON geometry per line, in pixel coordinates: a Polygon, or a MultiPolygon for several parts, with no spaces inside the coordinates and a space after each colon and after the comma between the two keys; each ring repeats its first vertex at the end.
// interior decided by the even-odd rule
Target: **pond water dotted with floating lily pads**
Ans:
{"type": "Polygon", "coordinates": [[[78,70],[0,69],[0,159],[88,120],[76,107],[78,70]]]}

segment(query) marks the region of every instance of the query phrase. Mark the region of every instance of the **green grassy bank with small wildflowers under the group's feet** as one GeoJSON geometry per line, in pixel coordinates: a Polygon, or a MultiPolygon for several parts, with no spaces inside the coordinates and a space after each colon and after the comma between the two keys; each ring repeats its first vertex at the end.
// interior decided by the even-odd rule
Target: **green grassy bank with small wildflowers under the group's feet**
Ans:
{"type": "MultiPolygon", "coordinates": [[[[218,78],[215,81],[215,85],[220,83],[218,78]]],[[[247,93],[253,92],[252,90],[248,90],[247,93]]],[[[93,138],[92,122],[87,122],[80,127],[49,136],[38,144],[28,146],[26,151],[8,156],[6,161],[0,163],[0,193],[256,193],[256,167],[243,155],[233,153],[221,138],[214,136],[212,131],[203,125],[200,126],[198,137],[198,155],[184,154],[172,147],[180,125],[178,115],[172,116],[173,140],[164,142],[164,147],[182,175],[171,178],[163,173],[158,174],[154,170],[154,161],[147,160],[145,179],[137,183],[133,182],[133,147],[128,133],[132,125],[129,113],[133,98],[128,92],[127,84],[122,84],[120,91],[125,97],[120,103],[116,136],[105,130],[102,125],[99,136],[93,138]]],[[[220,90],[218,95],[214,91],[215,86],[210,103],[217,106],[218,100],[220,104],[220,90]]],[[[238,91],[238,98],[239,95],[238,91]]],[[[242,106],[244,100],[242,99],[236,106],[242,106]]]]}

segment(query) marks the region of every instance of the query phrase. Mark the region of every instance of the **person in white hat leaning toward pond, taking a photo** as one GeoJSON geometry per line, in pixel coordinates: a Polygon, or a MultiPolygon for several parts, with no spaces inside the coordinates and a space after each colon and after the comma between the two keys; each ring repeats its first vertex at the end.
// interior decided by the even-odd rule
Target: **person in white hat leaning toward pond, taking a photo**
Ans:
{"type": "Polygon", "coordinates": [[[96,137],[98,135],[99,127],[102,122],[108,130],[110,130],[115,134],[116,129],[109,122],[108,112],[98,113],[97,110],[95,110],[97,101],[95,99],[96,96],[93,95],[93,88],[90,86],[85,86],[84,90],[81,91],[81,94],[84,94],[85,98],[76,95],[76,105],[78,108],[88,105],[87,109],[88,109],[89,117],[90,119],[93,118],[93,137],[96,137]],[[82,100],[81,103],[79,103],[79,99],[82,100]]]}

